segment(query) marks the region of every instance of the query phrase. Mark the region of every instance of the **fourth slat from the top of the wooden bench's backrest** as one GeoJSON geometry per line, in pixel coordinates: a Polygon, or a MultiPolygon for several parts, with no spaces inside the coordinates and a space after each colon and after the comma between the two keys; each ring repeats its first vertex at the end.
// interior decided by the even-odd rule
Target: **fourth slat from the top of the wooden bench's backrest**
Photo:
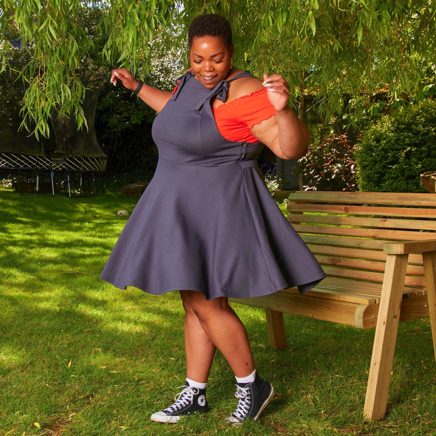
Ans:
{"type": "Polygon", "coordinates": [[[402,241],[429,239],[435,235],[433,232],[407,232],[405,230],[387,230],[379,228],[331,227],[293,223],[291,223],[291,225],[296,232],[312,233],[315,235],[357,236],[359,238],[398,239],[402,241]]]}

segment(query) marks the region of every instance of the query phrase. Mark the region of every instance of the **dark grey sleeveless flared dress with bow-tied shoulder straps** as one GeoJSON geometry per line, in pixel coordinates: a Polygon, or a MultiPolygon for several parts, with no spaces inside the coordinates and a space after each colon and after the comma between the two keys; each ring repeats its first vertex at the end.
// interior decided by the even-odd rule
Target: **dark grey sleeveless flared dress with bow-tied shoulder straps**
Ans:
{"type": "Polygon", "coordinates": [[[187,72],[152,127],[159,151],[140,197],[100,276],[147,293],[195,290],[208,300],[248,298],[325,277],[269,193],[256,158],[263,145],[235,142],[218,130],[207,89],[187,72]]]}

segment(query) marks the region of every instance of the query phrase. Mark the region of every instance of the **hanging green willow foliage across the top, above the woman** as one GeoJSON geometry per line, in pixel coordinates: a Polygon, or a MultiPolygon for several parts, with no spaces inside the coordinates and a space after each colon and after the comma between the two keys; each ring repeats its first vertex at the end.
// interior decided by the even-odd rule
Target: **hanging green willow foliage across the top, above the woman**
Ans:
{"type": "Polygon", "coordinates": [[[390,102],[422,99],[434,82],[436,0],[0,0],[1,70],[8,68],[8,29],[15,27],[32,54],[20,74],[28,82],[24,125],[34,121],[36,134],[48,133],[54,108],[76,117],[78,127],[84,123],[80,68],[94,42],[77,15],[89,7],[102,11],[107,66],[141,77],[153,46],[179,50],[184,63],[191,19],[223,14],[234,30],[235,65],[258,77],[283,74],[293,103],[314,91],[326,119],[347,110],[352,126],[371,112],[379,89],[388,90],[390,102]]]}

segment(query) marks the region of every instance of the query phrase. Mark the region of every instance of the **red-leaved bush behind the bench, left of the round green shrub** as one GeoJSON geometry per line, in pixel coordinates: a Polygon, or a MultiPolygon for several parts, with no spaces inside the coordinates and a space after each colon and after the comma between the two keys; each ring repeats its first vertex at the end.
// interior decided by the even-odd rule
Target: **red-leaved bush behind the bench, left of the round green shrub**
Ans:
{"type": "Polygon", "coordinates": [[[326,142],[309,147],[298,162],[304,190],[354,191],[357,186],[354,150],[347,133],[332,135],[326,142]]]}

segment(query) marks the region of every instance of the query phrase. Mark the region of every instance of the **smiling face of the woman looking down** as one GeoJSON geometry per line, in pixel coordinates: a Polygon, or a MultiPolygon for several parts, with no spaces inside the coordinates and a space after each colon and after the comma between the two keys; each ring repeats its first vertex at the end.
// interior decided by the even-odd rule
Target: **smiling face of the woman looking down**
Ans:
{"type": "Polygon", "coordinates": [[[228,76],[232,56],[233,44],[228,48],[219,37],[195,37],[190,52],[192,72],[203,86],[213,89],[228,76]]]}

